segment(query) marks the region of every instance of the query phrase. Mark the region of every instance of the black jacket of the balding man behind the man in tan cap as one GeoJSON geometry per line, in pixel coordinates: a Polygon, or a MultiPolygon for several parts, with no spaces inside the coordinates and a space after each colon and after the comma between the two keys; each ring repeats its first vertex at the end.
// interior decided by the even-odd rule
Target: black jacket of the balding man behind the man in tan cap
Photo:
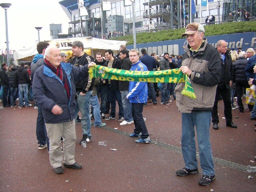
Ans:
{"type": "Polygon", "coordinates": [[[233,81],[234,75],[231,56],[227,52],[225,53],[225,56],[226,58],[224,63],[221,59],[222,71],[220,76],[220,83],[218,84],[218,88],[220,89],[223,89],[224,87],[229,89],[229,82],[233,81]]]}

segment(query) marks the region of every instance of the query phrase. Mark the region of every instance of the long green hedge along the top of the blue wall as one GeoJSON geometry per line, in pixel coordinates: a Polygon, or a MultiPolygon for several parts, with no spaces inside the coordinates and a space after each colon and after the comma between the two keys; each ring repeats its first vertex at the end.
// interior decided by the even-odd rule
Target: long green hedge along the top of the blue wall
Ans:
{"type": "MultiPolygon", "coordinates": [[[[215,25],[205,25],[204,36],[226,35],[234,33],[256,32],[256,21],[240,21],[240,22],[227,22],[215,25]]],[[[169,29],[157,32],[142,32],[136,33],[136,43],[150,43],[157,41],[167,41],[182,39],[181,35],[185,32],[182,29],[169,29]]],[[[121,37],[111,38],[112,40],[128,41],[127,45],[133,44],[133,35],[126,35],[121,37]]]]}

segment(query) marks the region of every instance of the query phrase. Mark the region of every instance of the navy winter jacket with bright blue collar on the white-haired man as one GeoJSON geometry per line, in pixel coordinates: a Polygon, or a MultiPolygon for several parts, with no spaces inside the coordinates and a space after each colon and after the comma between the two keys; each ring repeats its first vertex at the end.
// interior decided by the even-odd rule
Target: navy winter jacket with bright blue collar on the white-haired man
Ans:
{"type": "Polygon", "coordinates": [[[49,68],[42,65],[39,67],[33,78],[33,94],[36,102],[42,107],[42,113],[45,123],[64,123],[72,121],[76,106],[75,82],[84,79],[88,67],[75,67],[70,63],[61,62],[63,73],[66,72],[68,83],[70,85],[70,99],[68,100],[67,91],[60,78],[49,68]],[[52,108],[59,105],[63,113],[54,115],[52,108]]]}

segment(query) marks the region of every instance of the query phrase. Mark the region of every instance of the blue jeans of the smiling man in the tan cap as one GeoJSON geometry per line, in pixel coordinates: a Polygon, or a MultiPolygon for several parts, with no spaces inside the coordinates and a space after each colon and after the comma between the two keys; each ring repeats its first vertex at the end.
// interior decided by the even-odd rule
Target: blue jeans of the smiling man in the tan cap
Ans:
{"type": "Polygon", "coordinates": [[[200,164],[204,175],[212,176],[215,174],[212,160],[212,148],[210,142],[211,112],[181,113],[182,134],[181,147],[185,167],[197,169],[196,159],[196,135],[199,148],[200,164]]]}

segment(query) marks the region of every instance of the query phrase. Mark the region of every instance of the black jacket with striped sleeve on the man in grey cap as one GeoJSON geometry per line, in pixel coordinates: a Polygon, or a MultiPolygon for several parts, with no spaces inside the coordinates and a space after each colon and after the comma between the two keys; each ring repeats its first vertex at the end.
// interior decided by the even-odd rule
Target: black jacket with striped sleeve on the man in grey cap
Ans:
{"type": "MultiPolygon", "coordinates": [[[[84,55],[78,60],[76,63],[77,57],[74,57],[71,60],[71,64],[74,66],[82,67],[87,66],[89,63],[91,63],[94,59],[93,57],[89,56],[87,53],[84,53],[84,55]]],[[[83,92],[86,93],[87,91],[92,91],[92,86],[94,83],[94,79],[90,79],[89,73],[86,73],[86,76],[81,81],[76,81],[76,92],[83,92]]]]}

